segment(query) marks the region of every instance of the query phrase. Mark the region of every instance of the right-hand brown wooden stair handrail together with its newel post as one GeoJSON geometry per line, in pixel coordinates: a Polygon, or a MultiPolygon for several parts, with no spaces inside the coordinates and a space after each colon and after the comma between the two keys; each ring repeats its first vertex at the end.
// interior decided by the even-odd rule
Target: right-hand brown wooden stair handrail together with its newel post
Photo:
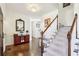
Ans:
{"type": "Polygon", "coordinates": [[[72,32],[73,32],[76,21],[77,21],[77,14],[75,14],[72,26],[70,28],[70,31],[67,34],[67,38],[68,38],[68,56],[71,56],[71,35],[72,35],[72,32]]]}

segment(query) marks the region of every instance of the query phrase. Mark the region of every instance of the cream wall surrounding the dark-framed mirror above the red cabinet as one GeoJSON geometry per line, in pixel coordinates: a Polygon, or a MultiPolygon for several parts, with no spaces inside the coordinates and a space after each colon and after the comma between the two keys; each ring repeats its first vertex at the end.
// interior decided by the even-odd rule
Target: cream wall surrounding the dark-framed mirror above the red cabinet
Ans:
{"type": "Polygon", "coordinates": [[[25,21],[25,31],[30,30],[30,20],[26,15],[8,10],[6,20],[4,20],[5,45],[14,43],[13,35],[19,33],[16,32],[15,24],[20,18],[25,21]]]}

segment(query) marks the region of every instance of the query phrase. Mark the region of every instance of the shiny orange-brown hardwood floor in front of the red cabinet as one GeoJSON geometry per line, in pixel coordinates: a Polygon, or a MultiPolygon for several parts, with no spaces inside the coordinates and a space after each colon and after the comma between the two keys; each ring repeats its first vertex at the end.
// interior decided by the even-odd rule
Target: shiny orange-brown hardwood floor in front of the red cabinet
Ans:
{"type": "Polygon", "coordinates": [[[4,56],[30,56],[29,43],[6,46],[4,56]]]}

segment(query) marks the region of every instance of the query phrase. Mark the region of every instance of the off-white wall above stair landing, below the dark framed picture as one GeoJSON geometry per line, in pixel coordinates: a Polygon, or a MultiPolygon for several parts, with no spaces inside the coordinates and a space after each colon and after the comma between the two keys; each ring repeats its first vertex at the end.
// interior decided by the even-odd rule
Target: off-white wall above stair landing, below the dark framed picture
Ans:
{"type": "Polygon", "coordinates": [[[63,4],[59,4],[58,7],[59,22],[64,26],[71,26],[74,17],[73,4],[71,6],[63,8],[63,4]]]}

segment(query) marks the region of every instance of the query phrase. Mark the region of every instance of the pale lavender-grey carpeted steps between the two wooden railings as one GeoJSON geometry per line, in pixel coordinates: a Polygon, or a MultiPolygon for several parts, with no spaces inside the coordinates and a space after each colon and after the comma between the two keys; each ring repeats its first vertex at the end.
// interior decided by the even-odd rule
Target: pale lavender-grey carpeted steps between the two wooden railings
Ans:
{"type": "Polygon", "coordinates": [[[43,56],[68,56],[67,33],[69,30],[70,27],[61,27],[52,41],[46,43],[47,46],[44,47],[43,56]]]}

